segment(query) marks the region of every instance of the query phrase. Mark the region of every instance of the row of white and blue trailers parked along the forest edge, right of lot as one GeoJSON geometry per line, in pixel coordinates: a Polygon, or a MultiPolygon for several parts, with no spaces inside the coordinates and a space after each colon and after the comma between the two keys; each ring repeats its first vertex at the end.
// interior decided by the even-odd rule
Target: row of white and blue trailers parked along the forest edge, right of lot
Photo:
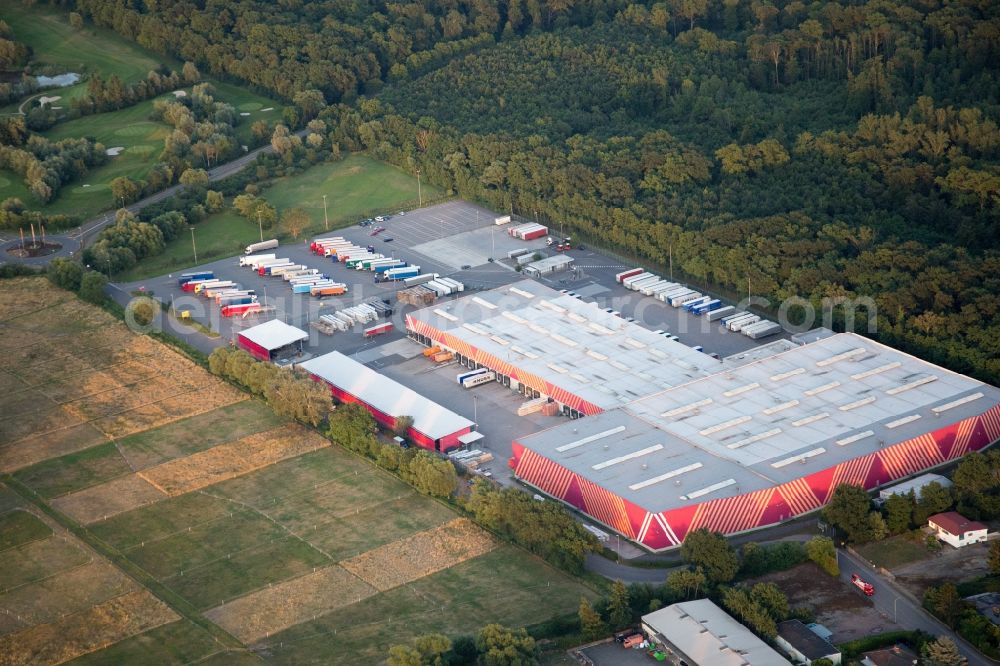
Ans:
{"type": "Polygon", "coordinates": [[[748,337],[757,340],[781,332],[781,326],[747,312],[737,311],[732,305],[726,305],[722,300],[706,296],[699,291],[679,282],[664,280],[659,275],[649,273],[642,268],[632,268],[622,271],[615,280],[626,289],[637,291],[644,296],[652,296],[675,308],[684,308],[693,315],[705,317],[709,321],[719,321],[731,331],[740,331],[748,337]],[[737,328],[729,327],[730,320],[737,328]]]}

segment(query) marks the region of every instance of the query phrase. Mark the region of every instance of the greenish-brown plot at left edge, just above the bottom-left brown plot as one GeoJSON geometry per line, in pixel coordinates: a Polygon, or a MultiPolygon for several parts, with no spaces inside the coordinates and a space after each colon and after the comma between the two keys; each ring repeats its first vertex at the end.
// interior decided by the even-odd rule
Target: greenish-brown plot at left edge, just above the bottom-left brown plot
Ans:
{"type": "Polygon", "coordinates": [[[0,614],[0,635],[55,622],[135,589],[131,578],[103,560],[61,571],[0,594],[0,608],[16,613],[0,614]]]}

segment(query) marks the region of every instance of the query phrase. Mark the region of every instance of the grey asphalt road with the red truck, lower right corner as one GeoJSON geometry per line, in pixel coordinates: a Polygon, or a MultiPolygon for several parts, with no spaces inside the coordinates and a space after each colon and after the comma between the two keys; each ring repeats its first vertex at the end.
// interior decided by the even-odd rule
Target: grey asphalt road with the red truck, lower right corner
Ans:
{"type": "MultiPolygon", "coordinates": [[[[948,636],[955,641],[962,654],[969,660],[969,666],[991,666],[996,663],[975,650],[937,618],[932,617],[901,586],[875,573],[872,565],[839,549],[837,561],[840,564],[840,578],[845,585],[852,585],[851,574],[858,574],[875,586],[875,595],[871,597],[872,604],[892,618],[896,624],[910,630],[920,629],[932,636],[948,636]]],[[[860,591],[857,593],[861,594],[860,591]]]]}

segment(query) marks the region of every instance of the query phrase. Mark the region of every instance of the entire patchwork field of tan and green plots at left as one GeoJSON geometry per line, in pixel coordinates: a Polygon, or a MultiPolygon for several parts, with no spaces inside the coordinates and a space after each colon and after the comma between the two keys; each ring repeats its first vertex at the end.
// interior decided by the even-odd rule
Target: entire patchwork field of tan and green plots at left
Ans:
{"type": "Polygon", "coordinates": [[[44,280],[0,326],[4,663],[372,663],[594,596],[44,280]]]}

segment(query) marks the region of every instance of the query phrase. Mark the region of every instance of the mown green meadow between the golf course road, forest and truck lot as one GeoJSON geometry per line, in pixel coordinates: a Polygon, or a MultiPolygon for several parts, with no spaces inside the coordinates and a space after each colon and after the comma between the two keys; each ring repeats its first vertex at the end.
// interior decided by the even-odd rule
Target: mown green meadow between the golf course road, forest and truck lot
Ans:
{"type": "MultiPolygon", "coordinates": [[[[300,206],[312,216],[312,228],[304,236],[324,229],[323,195],[327,195],[330,228],[354,224],[378,212],[411,208],[417,203],[417,181],[396,167],[367,155],[351,155],[340,162],[318,164],[306,171],[279,178],[264,191],[264,198],[279,211],[300,206]]],[[[424,186],[424,199],[440,196],[440,190],[424,186]]],[[[215,261],[239,254],[247,243],[260,239],[257,226],[231,209],[210,215],[197,223],[195,244],[198,262],[215,261]]],[[[264,230],[265,238],[275,230],[264,230]]],[[[132,270],[115,276],[118,282],[133,282],[164,275],[195,264],[191,236],[183,235],[167,244],[163,254],[149,257],[132,270]]]]}

